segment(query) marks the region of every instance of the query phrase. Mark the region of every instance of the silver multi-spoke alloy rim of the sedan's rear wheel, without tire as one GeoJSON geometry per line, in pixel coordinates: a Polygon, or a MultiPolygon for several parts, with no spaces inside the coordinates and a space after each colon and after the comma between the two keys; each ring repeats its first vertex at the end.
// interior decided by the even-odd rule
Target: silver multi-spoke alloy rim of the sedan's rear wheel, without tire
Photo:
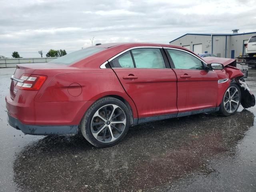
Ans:
{"type": "Polygon", "coordinates": [[[92,117],[92,135],[100,142],[112,142],[118,139],[126,126],[124,111],[115,104],[109,104],[97,110],[92,117]]]}

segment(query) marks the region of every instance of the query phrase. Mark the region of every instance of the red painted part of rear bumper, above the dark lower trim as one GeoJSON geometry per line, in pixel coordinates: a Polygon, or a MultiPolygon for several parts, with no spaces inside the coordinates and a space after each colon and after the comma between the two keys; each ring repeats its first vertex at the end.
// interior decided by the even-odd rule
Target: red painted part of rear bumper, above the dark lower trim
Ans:
{"type": "MultiPolygon", "coordinates": [[[[26,125],[79,125],[86,110],[94,101],[35,102],[31,94],[6,96],[6,109],[10,116],[26,125]]],[[[27,91],[28,92],[28,91],[27,91]]],[[[34,96],[34,95],[33,95],[34,96]]]]}

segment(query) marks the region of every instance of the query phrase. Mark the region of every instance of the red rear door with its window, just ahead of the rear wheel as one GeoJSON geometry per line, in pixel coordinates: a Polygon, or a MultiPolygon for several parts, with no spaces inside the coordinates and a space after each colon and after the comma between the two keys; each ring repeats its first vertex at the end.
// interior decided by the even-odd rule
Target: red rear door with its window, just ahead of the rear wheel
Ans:
{"type": "Polygon", "coordinates": [[[133,48],[109,60],[139,118],[178,112],[177,78],[163,53],[157,47],[133,48]]]}

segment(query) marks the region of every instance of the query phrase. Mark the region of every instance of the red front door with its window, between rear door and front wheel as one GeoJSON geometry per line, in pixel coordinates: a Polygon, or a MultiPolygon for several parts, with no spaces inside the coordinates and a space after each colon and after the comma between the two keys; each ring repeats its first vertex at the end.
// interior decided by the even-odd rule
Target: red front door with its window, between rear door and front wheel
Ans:
{"type": "Polygon", "coordinates": [[[205,70],[202,60],[185,50],[166,48],[178,79],[179,113],[215,108],[218,97],[218,76],[205,70]]]}

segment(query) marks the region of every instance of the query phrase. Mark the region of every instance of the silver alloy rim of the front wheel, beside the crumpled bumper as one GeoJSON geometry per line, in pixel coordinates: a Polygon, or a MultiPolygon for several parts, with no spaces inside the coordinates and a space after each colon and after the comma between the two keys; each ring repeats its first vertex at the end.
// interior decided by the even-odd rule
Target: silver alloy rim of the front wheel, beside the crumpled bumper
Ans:
{"type": "Polygon", "coordinates": [[[228,113],[233,113],[239,106],[239,91],[236,87],[230,87],[226,90],[224,96],[224,108],[228,113]]]}

